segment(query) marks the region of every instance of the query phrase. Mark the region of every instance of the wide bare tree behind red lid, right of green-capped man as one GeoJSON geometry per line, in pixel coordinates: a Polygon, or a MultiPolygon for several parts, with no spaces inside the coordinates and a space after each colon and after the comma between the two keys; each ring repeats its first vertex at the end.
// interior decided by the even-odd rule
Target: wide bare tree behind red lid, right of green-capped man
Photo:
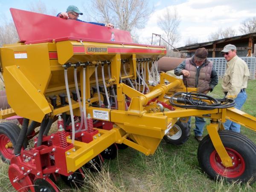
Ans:
{"type": "Polygon", "coordinates": [[[113,23],[116,28],[131,32],[143,28],[151,9],[147,0],[91,0],[90,16],[94,20],[113,23]]]}

